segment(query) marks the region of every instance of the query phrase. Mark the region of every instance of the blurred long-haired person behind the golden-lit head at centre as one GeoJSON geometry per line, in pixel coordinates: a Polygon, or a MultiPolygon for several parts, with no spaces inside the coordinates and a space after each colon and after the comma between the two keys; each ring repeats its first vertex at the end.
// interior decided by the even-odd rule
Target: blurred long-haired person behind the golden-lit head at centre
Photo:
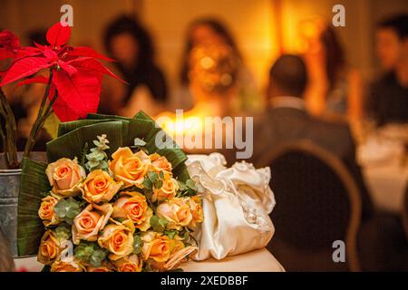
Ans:
{"type": "Polygon", "coordinates": [[[213,44],[228,45],[238,60],[238,75],[236,88],[238,97],[230,105],[235,112],[257,111],[261,107],[261,98],[257,85],[243,62],[237,43],[228,32],[227,27],[219,20],[213,18],[201,18],[191,24],[187,31],[186,44],[183,59],[180,66],[180,89],[174,95],[173,107],[176,109],[190,109],[193,107],[194,97],[189,92],[189,55],[197,46],[213,44]]]}

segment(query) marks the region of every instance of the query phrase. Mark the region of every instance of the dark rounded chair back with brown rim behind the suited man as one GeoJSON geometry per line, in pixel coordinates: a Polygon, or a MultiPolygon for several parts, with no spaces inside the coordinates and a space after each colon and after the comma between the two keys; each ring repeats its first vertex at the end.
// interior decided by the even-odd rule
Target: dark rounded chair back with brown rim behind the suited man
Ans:
{"type": "Polygon", "coordinates": [[[289,271],[358,271],[361,197],[342,161],[299,141],[273,150],[263,165],[271,168],[277,200],[271,214],[276,234],[269,245],[277,259],[289,271]],[[334,262],[336,240],[345,243],[345,263],[334,262]]]}

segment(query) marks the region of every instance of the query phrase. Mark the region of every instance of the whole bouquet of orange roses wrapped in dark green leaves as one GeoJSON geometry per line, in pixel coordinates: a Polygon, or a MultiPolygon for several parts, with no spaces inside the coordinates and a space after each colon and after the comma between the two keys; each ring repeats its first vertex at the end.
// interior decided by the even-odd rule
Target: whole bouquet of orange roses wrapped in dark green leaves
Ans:
{"type": "Polygon", "coordinates": [[[154,122],[142,113],[133,119],[96,116],[60,125],[61,136],[47,144],[53,162],[24,160],[20,255],[37,246],[38,261],[52,272],[173,270],[197,249],[189,233],[203,220],[183,153],[177,147],[155,148],[152,140],[160,129],[149,127],[154,122]],[[114,134],[110,139],[109,132],[98,135],[117,133],[119,124],[126,133],[121,140],[114,134]],[[118,146],[130,138],[133,145],[118,146]],[[62,149],[67,143],[83,145],[81,154],[62,149]],[[38,188],[45,185],[39,198],[38,188]],[[39,219],[24,215],[33,212],[27,206],[30,197],[39,219]],[[33,228],[39,222],[44,231],[38,245],[33,228]]]}

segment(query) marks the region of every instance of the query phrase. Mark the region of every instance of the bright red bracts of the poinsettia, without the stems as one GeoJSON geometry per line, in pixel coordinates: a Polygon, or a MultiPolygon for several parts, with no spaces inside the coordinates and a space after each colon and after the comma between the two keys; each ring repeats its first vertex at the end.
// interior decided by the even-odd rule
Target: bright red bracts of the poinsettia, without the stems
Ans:
{"type": "MultiPolygon", "coordinates": [[[[32,76],[44,69],[53,72],[49,99],[58,92],[53,111],[61,121],[73,121],[84,118],[90,112],[96,112],[100,101],[102,74],[122,81],[98,59],[113,60],[95,52],[89,47],[72,47],[67,43],[71,36],[71,27],[54,24],[47,32],[50,45],[21,47],[14,34],[0,33],[0,59],[14,58],[10,67],[2,74],[0,86],[32,76]],[[4,40],[3,40],[4,39],[4,40]]],[[[44,76],[34,77],[19,84],[48,82],[44,76]]]]}

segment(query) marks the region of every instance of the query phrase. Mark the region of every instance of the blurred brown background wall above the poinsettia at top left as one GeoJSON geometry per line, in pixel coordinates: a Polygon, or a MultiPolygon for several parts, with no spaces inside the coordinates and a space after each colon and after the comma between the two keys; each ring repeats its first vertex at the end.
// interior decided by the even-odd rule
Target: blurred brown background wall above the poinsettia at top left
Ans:
{"type": "Polygon", "coordinates": [[[106,24],[118,14],[141,10],[141,0],[2,0],[0,28],[6,27],[24,39],[27,32],[59,21],[64,4],[73,6],[71,43],[92,45],[100,51],[106,24]]]}

